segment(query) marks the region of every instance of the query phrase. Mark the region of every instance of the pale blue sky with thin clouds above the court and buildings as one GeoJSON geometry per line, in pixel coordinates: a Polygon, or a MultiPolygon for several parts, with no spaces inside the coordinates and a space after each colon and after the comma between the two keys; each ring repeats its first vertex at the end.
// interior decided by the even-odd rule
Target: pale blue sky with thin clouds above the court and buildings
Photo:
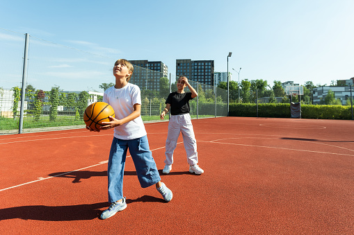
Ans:
{"type": "MultiPolygon", "coordinates": [[[[161,60],[172,74],[176,59],[214,60],[215,71],[227,71],[231,51],[229,71],[242,67],[240,80],[330,85],[354,77],[353,12],[353,0],[11,0],[0,3],[0,28],[103,55],[109,74],[102,82],[113,82],[108,76],[118,58],[161,60]]],[[[0,47],[8,36],[0,31],[0,47]]],[[[69,60],[42,65],[62,68],[63,76],[74,66],[69,60]]],[[[76,73],[92,76],[90,69],[76,73]]]]}

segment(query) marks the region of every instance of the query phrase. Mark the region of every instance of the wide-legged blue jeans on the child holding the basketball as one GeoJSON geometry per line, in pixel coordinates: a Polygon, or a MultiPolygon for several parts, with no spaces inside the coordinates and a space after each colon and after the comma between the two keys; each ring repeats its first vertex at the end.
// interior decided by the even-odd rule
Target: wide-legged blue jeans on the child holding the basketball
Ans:
{"type": "Polygon", "coordinates": [[[107,171],[108,202],[115,202],[123,198],[123,176],[128,148],[142,188],[152,186],[161,180],[146,135],[129,140],[113,137],[107,171]]]}

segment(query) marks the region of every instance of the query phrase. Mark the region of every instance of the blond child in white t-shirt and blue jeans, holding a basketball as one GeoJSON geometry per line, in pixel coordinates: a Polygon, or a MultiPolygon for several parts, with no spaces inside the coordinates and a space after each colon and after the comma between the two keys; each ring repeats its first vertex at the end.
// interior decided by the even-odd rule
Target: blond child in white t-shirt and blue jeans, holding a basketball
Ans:
{"type": "MultiPolygon", "coordinates": [[[[159,171],[152,157],[147,141],[147,133],[140,116],[141,96],[137,85],[129,83],[133,74],[133,65],[124,59],[117,60],[113,67],[115,86],[106,89],[103,102],[111,105],[115,118],[102,123],[100,130],[114,128],[113,141],[108,159],[108,201],[111,206],[102,212],[101,218],[114,216],[127,207],[123,197],[123,175],[127,150],[133,159],[136,174],[142,188],[156,184],[163,199],[172,200],[172,191],[161,182],[159,171]]],[[[91,128],[88,128],[92,131],[91,128]]],[[[99,131],[99,130],[98,130],[99,131]]]]}

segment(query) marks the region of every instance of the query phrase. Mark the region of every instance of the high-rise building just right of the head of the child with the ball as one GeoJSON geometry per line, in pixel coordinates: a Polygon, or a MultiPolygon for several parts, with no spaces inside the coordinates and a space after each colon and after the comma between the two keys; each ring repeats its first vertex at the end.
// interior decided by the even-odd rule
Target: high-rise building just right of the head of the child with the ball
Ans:
{"type": "Polygon", "coordinates": [[[160,90],[160,78],[168,78],[168,67],[161,61],[129,60],[134,66],[134,73],[129,82],[140,89],[160,90]]]}

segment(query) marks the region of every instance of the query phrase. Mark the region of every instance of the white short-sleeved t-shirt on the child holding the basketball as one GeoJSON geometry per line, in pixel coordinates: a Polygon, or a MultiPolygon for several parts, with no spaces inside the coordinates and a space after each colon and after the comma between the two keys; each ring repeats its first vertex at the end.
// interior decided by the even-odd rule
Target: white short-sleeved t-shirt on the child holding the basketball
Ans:
{"type": "MultiPolygon", "coordinates": [[[[128,83],[120,89],[109,87],[104,92],[103,102],[113,107],[115,119],[124,119],[134,112],[134,105],[141,105],[140,89],[137,85],[128,83]]],[[[146,135],[141,116],[114,128],[114,137],[118,139],[136,139],[146,135]]]]}

